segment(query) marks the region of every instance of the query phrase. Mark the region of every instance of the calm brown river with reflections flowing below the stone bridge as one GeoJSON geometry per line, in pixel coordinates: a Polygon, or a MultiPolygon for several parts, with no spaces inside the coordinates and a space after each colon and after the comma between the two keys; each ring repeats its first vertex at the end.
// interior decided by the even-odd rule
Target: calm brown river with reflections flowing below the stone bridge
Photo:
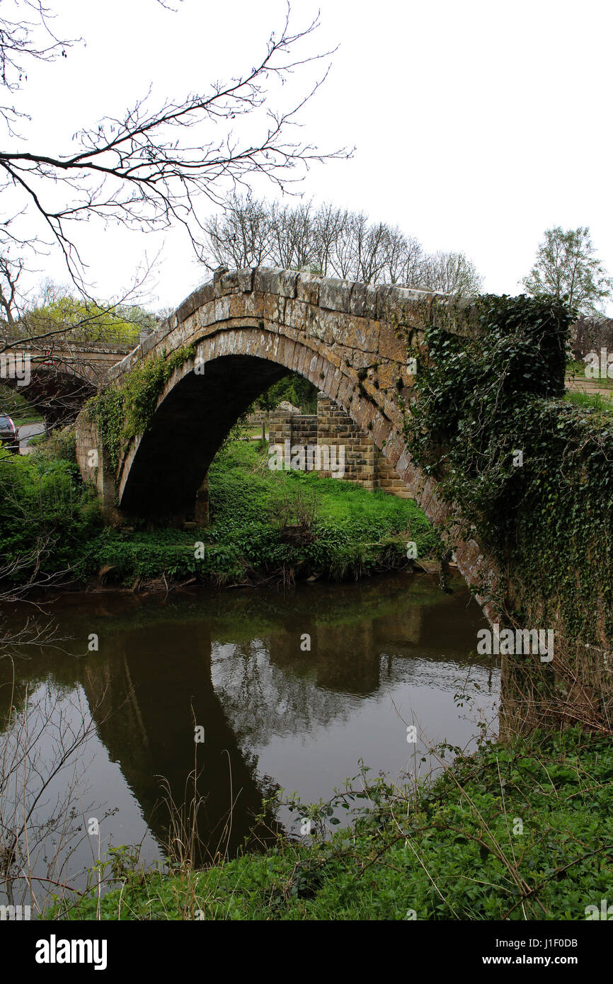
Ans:
{"type": "MultiPolygon", "coordinates": [[[[470,749],[479,721],[497,729],[499,668],[473,655],[486,622],[459,579],[449,593],[408,573],[285,591],[64,593],[43,608],[52,643],[16,649],[14,681],[0,664],[5,771],[7,760],[28,770],[28,803],[77,746],[31,814],[23,864],[49,879],[38,897],[54,881],[83,890],[109,845],[162,859],[168,798],[190,801],[194,769],[202,861],[299,833],[300,811],[265,806],[279,789],[329,799],[360,760],[407,781],[439,767],[434,743],[470,749]]],[[[14,609],[11,624],[25,612],[36,609],[14,609]]],[[[3,816],[11,807],[9,783],[3,816]]]]}

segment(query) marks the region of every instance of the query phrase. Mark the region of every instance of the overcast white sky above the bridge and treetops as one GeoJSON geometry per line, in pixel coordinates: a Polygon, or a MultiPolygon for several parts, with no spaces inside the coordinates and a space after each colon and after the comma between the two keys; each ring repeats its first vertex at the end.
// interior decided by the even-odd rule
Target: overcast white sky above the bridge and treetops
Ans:
{"type": "MultiPolygon", "coordinates": [[[[203,91],[249,69],[284,0],[48,0],[68,58],[31,69],[22,128],[31,149],[70,151],[72,134],[153,96],[203,91]]],[[[302,192],[362,210],[421,240],[467,254],[485,289],[517,293],[545,228],[588,225],[613,273],[613,4],[583,0],[294,0],[296,26],[321,9],[311,45],[339,45],[302,136],[353,159],[315,165],[302,192]]],[[[295,77],[302,92],[310,76],[295,77]]],[[[290,90],[290,94],[291,90],[290,90]]],[[[256,192],[262,193],[262,186],[256,192]]],[[[117,294],[161,240],[82,228],[99,295],[117,294]]],[[[66,279],[51,261],[40,276],[66,279]]],[[[179,303],[207,278],[182,235],[166,235],[153,300],[179,303]]],[[[611,312],[609,312],[611,313],[611,312]]]]}

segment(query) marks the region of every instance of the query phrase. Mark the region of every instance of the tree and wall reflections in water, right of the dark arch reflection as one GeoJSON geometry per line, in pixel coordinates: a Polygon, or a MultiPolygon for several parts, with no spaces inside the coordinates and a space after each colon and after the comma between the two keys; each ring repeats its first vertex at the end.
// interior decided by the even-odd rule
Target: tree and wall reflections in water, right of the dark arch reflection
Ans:
{"type": "MultiPolygon", "coordinates": [[[[383,697],[399,680],[457,692],[482,619],[476,606],[473,624],[466,619],[465,594],[442,595],[445,605],[397,599],[392,612],[387,605],[383,613],[371,608],[369,619],[353,624],[346,618],[337,625],[318,622],[314,613],[298,609],[279,618],[275,632],[249,642],[233,642],[227,630],[215,642],[215,619],[215,694],[241,748],[263,748],[278,735],[346,721],[356,699],[383,697]],[[310,651],[301,649],[305,632],[310,651]]],[[[477,676],[490,693],[496,689],[497,672],[477,667],[469,690],[477,676]]]]}

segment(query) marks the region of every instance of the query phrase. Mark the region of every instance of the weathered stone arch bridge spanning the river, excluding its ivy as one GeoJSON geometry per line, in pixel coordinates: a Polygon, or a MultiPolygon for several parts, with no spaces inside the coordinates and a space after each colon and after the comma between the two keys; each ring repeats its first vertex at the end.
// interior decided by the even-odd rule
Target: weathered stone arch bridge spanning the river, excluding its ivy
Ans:
{"type": "MultiPolygon", "coordinates": [[[[434,480],[410,460],[402,437],[402,403],[413,382],[407,339],[419,341],[439,318],[450,331],[470,332],[470,310],[465,302],[398,286],[221,269],[109,371],[108,384],[121,386],[146,360],[193,346],[193,357],[167,380],[146,433],[123,450],[116,468],[87,411],[80,414],[81,472],[95,481],[109,518],[119,512],[174,524],[198,520],[208,468],[230,427],[293,370],[337,401],[430,521],[445,523],[451,510],[437,497],[434,480]]],[[[495,578],[495,564],[467,532],[456,560],[469,584],[495,578]]]]}

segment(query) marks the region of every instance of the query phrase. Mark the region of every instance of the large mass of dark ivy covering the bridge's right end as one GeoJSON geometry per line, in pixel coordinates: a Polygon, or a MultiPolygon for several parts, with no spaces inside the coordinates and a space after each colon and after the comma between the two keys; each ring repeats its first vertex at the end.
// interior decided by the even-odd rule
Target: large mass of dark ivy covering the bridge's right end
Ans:
{"type": "Polygon", "coordinates": [[[473,336],[430,327],[410,353],[408,450],[506,567],[503,611],[610,650],[613,414],[564,399],[574,313],[487,295],[474,317],[473,336]]]}

